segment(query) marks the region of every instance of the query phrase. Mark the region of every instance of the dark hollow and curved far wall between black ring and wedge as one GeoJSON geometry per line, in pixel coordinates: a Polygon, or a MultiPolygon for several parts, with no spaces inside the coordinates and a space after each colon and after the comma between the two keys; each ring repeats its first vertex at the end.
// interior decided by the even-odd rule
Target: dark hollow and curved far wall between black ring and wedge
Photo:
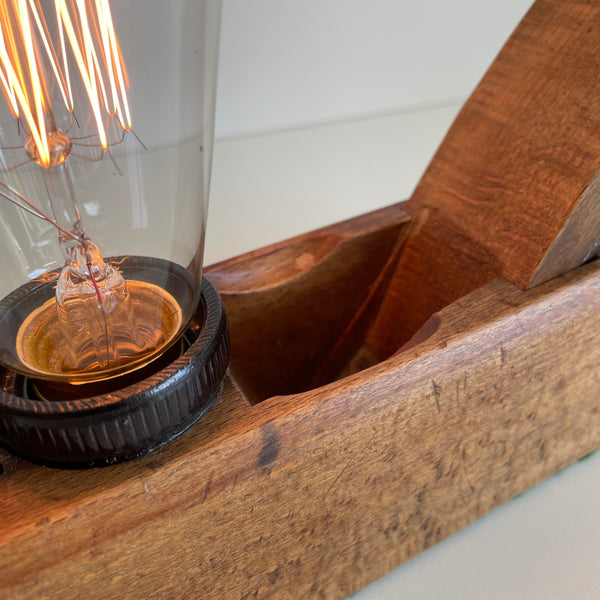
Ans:
{"type": "Polygon", "coordinates": [[[207,269],[229,319],[231,374],[252,403],[381,360],[364,342],[410,229],[402,206],[207,269]]]}

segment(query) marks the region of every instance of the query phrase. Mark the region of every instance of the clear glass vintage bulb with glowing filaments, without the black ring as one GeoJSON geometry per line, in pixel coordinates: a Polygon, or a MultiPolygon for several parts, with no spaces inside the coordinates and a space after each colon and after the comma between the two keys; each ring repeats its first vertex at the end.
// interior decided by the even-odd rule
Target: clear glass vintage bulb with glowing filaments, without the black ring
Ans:
{"type": "Polygon", "coordinates": [[[219,0],[0,7],[0,362],[83,384],[199,301],[219,0]]]}

